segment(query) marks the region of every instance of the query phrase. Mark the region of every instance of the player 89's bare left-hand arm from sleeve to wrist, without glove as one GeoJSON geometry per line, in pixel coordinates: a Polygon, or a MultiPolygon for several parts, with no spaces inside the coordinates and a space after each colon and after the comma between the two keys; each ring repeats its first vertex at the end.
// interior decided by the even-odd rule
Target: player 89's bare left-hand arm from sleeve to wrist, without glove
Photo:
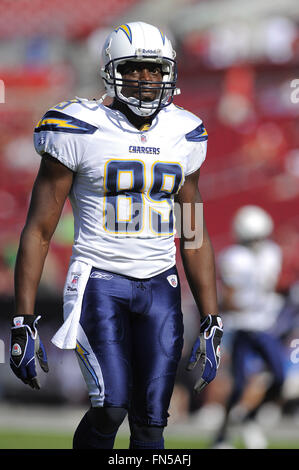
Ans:
{"type": "Polygon", "coordinates": [[[32,191],[15,268],[15,315],[34,313],[35,298],[51,237],[73,182],[73,172],[48,156],[32,191]]]}

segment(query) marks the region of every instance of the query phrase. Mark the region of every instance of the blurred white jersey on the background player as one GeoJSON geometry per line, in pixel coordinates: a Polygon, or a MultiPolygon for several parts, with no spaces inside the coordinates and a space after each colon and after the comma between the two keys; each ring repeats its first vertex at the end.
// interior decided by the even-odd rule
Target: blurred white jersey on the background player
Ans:
{"type": "Polygon", "coordinates": [[[283,306],[275,292],[281,269],[281,252],[272,241],[255,250],[232,245],[218,256],[220,278],[233,288],[235,310],[226,313],[226,327],[243,330],[268,330],[283,306]]]}

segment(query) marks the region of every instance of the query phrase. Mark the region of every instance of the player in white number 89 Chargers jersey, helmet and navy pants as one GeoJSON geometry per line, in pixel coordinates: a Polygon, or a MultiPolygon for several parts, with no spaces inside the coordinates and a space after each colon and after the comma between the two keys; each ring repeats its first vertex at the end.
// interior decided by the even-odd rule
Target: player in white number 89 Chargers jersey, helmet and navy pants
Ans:
{"type": "Polygon", "coordinates": [[[158,28],[136,22],[113,30],[101,74],[110,106],[103,99],[66,101],[35,128],[42,160],[15,269],[11,366],[33,388],[40,387],[35,353],[48,369],[35,297],[69,196],[75,237],[64,323],[52,341],[75,349],[89,391],[91,407],[73,447],[113,448],[128,413],[130,448],[161,449],[183,346],[175,199],[183,263],[202,319],[188,364],[198,367],[198,392],[220,360],[213,248],[204,222],[196,222],[207,132],[198,117],[172,103],[175,52],[158,28]],[[185,206],[191,208],[188,239],[185,206]]]}

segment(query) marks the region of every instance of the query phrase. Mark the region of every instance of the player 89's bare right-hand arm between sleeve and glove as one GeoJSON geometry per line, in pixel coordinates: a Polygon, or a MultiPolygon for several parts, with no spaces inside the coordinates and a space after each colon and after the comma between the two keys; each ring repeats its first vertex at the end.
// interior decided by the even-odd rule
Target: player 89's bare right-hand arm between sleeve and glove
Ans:
{"type": "MultiPolygon", "coordinates": [[[[191,230],[203,230],[203,242],[198,248],[188,248],[190,240],[184,237],[184,230],[180,240],[180,250],[186,277],[194,296],[196,305],[202,317],[218,313],[216,275],[214,250],[206,228],[204,218],[203,227],[195,227],[195,207],[202,203],[198,189],[199,170],[186,177],[185,183],[178,193],[177,200],[183,215],[184,204],[191,204],[191,230]]],[[[183,221],[182,221],[183,223],[183,221]]]]}

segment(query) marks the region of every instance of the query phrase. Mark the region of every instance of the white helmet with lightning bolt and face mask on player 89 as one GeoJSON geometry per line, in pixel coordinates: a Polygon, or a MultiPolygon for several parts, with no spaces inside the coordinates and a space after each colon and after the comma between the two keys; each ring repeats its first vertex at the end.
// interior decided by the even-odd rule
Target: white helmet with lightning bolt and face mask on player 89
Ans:
{"type": "MultiPolygon", "coordinates": [[[[155,26],[143,22],[119,26],[106,39],[102,52],[101,76],[107,95],[116,97],[119,101],[127,104],[139,116],[150,116],[157,109],[168,106],[172,102],[173,96],[179,93],[176,88],[175,56],[171,42],[155,26]],[[149,102],[141,100],[141,91],[144,90],[145,82],[138,81],[138,85],[136,85],[136,80],[122,79],[118,66],[127,61],[151,62],[161,66],[162,81],[153,82],[155,90],[158,88],[159,91],[155,100],[149,102]],[[124,85],[134,89],[138,88],[140,98],[125,97],[122,94],[124,85]]],[[[147,82],[147,87],[149,84],[151,82],[147,82]]]]}

